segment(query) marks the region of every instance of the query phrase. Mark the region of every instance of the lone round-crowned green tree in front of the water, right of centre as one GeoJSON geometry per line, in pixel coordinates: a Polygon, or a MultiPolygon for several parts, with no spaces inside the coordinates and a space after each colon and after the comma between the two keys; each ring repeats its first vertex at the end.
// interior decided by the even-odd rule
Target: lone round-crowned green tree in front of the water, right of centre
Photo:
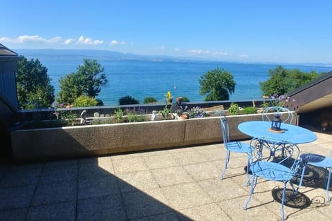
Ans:
{"type": "Polygon", "coordinates": [[[230,94],[234,93],[236,85],[232,74],[219,68],[201,75],[199,84],[201,85],[200,94],[206,95],[205,101],[230,99],[230,94]]]}

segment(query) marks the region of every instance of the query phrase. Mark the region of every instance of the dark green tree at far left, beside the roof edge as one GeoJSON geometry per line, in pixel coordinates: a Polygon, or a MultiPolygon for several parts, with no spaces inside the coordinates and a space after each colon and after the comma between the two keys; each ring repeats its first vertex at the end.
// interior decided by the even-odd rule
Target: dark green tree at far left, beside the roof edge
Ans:
{"type": "Polygon", "coordinates": [[[48,108],[54,102],[54,86],[47,75],[47,68],[39,59],[26,59],[22,56],[17,61],[16,82],[19,108],[48,108]]]}

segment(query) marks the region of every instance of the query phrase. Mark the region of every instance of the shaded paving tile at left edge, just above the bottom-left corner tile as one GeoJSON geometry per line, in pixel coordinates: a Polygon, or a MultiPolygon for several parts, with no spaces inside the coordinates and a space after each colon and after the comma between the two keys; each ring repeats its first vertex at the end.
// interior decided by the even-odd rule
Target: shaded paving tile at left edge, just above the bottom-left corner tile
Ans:
{"type": "Polygon", "coordinates": [[[35,185],[0,189],[0,211],[28,207],[34,191],[35,185]]]}

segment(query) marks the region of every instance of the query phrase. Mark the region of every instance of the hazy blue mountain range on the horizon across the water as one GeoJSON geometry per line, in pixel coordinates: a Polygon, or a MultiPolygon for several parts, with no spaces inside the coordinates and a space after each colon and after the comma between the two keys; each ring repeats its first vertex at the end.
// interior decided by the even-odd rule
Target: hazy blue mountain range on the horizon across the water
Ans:
{"type": "MultiPolygon", "coordinates": [[[[28,59],[43,61],[77,61],[84,58],[97,60],[193,60],[172,56],[134,55],[110,50],[78,50],[78,49],[13,49],[19,55],[28,59]]],[[[198,60],[198,59],[195,59],[198,60]]]]}

